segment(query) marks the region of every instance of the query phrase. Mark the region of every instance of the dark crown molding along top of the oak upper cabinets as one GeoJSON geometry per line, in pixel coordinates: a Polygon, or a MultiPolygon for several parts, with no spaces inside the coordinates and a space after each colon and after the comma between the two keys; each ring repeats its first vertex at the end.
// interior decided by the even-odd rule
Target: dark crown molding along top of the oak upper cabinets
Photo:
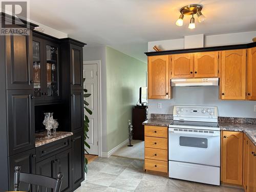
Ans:
{"type": "Polygon", "coordinates": [[[153,51],[153,52],[145,52],[145,54],[147,56],[154,56],[154,55],[169,55],[169,54],[195,53],[195,52],[206,52],[206,51],[223,51],[223,50],[232,50],[232,49],[247,49],[252,47],[256,47],[256,42],[250,42],[249,44],[228,45],[228,46],[153,51]]]}

